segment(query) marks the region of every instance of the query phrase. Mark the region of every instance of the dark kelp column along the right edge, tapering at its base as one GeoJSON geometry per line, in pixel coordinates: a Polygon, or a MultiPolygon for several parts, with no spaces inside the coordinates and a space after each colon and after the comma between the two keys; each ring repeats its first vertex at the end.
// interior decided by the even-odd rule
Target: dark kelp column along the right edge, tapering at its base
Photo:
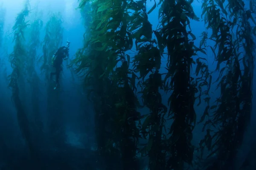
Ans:
{"type": "MultiPolygon", "coordinates": [[[[247,125],[249,124],[250,117],[252,114],[252,91],[253,91],[253,73],[254,73],[254,62],[255,62],[255,37],[256,37],[256,21],[254,20],[256,14],[256,5],[250,0],[249,9],[244,8],[243,1],[237,1],[236,3],[242,3],[239,11],[237,11],[238,16],[234,16],[239,18],[238,23],[240,23],[239,31],[236,31],[237,42],[237,53],[241,55],[244,54],[242,63],[244,70],[241,69],[242,77],[240,79],[241,88],[239,90],[239,98],[241,99],[241,110],[239,113],[239,118],[237,122],[239,123],[239,127],[237,130],[238,142],[241,145],[242,139],[244,137],[244,133],[247,125]],[[250,24],[252,23],[252,24],[250,24]],[[243,48],[239,46],[239,44],[243,45],[243,48]],[[240,50],[240,51],[238,51],[240,50]],[[244,53],[241,54],[241,50],[244,50],[244,53]]],[[[235,6],[236,7],[236,6],[235,6]]],[[[234,8],[234,6],[230,6],[230,8],[234,8]]],[[[237,7],[236,7],[237,8],[237,7]]],[[[241,58],[241,57],[240,57],[241,58]]]]}

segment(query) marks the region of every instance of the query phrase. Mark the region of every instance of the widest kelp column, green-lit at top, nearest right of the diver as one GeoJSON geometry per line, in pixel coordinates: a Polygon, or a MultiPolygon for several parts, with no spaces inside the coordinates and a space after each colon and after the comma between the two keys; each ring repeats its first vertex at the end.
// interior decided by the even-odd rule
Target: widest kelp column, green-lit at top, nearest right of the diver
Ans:
{"type": "MultiPolygon", "coordinates": [[[[135,77],[128,76],[133,74],[129,69],[130,57],[125,54],[132,47],[126,18],[130,3],[92,2],[89,40],[74,61],[77,73],[85,71],[85,85],[93,93],[96,141],[106,169],[116,166],[113,159],[119,154],[122,169],[139,168],[136,160],[139,130],[135,121],[140,113],[136,111],[137,98],[133,91],[135,77]]],[[[81,1],[80,7],[84,4],[81,1]]]]}

